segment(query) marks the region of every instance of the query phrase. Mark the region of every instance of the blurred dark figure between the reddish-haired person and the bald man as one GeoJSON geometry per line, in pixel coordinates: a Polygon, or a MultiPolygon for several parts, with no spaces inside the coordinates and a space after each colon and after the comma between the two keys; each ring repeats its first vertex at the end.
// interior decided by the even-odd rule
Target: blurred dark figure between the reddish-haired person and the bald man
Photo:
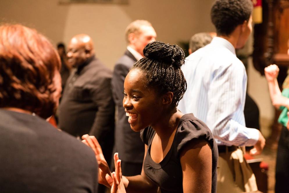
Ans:
{"type": "Polygon", "coordinates": [[[57,52],[60,56],[60,61],[61,61],[60,76],[61,76],[62,91],[64,91],[64,86],[65,86],[65,83],[69,77],[70,70],[71,70],[72,66],[69,65],[69,63],[67,62],[66,50],[65,50],[64,43],[60,42],[57,44],[57,52]]]}

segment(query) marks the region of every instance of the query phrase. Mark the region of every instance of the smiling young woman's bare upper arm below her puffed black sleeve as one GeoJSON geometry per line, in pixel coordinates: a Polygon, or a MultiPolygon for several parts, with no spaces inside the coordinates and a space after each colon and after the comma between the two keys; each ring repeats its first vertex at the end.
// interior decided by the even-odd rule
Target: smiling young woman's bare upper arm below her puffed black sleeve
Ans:
{"type": "Polygon", "coordinates": [[[184,193],[211,192],[212,150],[205,140],[194,140],[180,154],[184,193]]]}

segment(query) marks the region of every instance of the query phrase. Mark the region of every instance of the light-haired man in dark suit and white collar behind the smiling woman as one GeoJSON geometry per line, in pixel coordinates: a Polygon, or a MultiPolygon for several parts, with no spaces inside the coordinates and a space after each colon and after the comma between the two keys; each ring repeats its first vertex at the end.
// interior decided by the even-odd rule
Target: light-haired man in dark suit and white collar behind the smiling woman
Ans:
{"type": "Polygon", "coordinates": [[[131,130],[122,105],[124,79],[133,64],[144,57],[144,47],[156,40],[156,32],[150,22],[135,20],[126,27],[125,38],[128,45],[124,55],[115,64],[111,82],[117,111],[115,151],[119,153],[119,159],[122,160],[122,174],[135,176],[142,170],[144,144],[140,139],[140,133],[131,130]]]}

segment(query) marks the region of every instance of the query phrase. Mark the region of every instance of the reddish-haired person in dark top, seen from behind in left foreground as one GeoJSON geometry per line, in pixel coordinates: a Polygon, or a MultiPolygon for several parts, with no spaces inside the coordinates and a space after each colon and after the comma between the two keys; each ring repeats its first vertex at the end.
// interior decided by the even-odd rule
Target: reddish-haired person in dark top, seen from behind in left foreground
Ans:
{"type": "Polygon", "coordinates": [[[45,119],[58,107],[60,59],[22,25],[0,26],[1,192],[96,192],[93,152],[45,119]]]}

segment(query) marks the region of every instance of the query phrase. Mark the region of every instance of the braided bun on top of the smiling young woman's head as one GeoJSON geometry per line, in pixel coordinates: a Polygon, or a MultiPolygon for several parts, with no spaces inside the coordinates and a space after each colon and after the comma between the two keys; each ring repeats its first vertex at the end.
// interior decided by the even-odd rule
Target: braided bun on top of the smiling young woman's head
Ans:
{"type": "Polygon", "coordinates": [[[143,52],[144,56],[149,59],[171,64],[178,68],[185,63],[185,53],[183,49],[175,44],[170,45],[160,41],[154,41],[147,44],[143,52]]]}

